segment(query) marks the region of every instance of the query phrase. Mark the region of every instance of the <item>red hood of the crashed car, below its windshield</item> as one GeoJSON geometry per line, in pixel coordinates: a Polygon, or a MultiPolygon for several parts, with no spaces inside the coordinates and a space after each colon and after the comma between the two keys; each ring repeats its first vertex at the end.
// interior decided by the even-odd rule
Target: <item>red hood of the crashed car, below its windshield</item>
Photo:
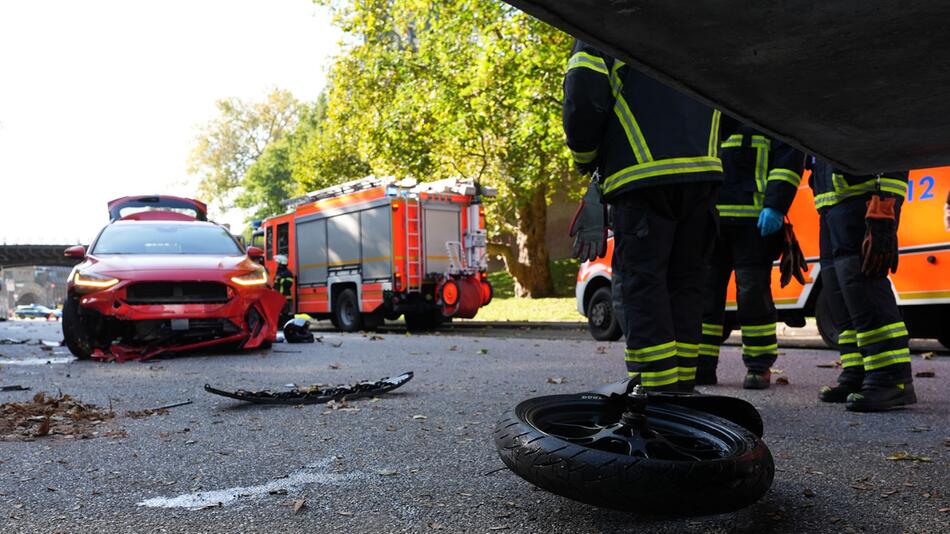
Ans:
{"type": "Polygon", "coordinates": [[[91,256],[90,268],[98,273],[129,271],[251,271],[258,264],[247,256],[202,256],[190,254],[127,254],[91,256]]]}

